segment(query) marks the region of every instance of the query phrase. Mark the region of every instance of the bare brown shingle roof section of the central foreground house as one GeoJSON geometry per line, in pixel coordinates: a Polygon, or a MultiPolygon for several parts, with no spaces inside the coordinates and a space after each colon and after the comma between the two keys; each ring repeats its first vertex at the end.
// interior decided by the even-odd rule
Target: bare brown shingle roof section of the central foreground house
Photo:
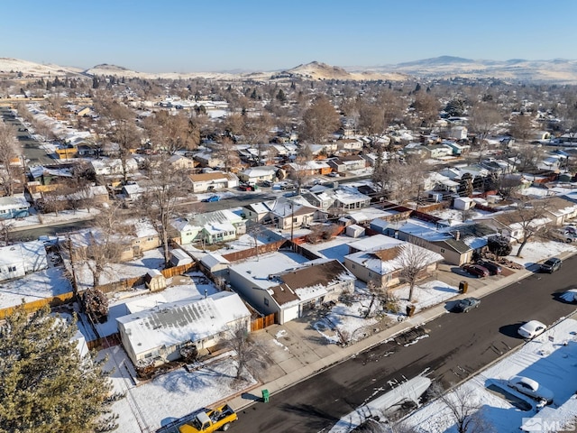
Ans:
{"type": "Polygon", "coordinates": [[[293,290],[316,285],[328,286],[333,281],[339,280],[344,272],[347,271],[343,265],[337,260],[332,260],[283,273],[279,275],[282,282],[271,288],[272,297],[279,305],[286,304],[298,299],[298,295],[293,290]]]}

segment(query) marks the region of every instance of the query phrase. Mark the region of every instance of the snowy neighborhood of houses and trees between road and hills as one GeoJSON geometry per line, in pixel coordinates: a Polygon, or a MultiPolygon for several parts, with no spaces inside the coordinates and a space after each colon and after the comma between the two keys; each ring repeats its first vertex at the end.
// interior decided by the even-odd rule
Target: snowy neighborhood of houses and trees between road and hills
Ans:
{"type": "Polygon", "coordinates": [[[0,71],[0,115],[0,318],[76,312],[136,382],[357,302],[353,345],[439,272],[577,242],[572,88],[0,71]]]}

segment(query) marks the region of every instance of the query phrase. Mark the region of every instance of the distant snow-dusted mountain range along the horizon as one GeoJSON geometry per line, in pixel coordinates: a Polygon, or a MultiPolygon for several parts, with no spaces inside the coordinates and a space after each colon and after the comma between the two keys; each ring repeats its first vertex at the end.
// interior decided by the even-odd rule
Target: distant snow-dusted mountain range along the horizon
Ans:
{"type": "Polygon", "coordinates": [[[114,75],[126,78],[214,78],[214,79],[270,79],[308,78],[341,80],[390,81],[414,78],[499,78],[509,82],[541,82],[577,84],[577,60],[472,60],[441,56],[409,61],[396,65],[374,67],[338,67],[312,61],[292,69],[260,72],[193,72],[148,73],[120,66],[101,64],[90,69],[40,64],[27,60],[0,58],[0,75],[22,72],[23,76],[94,76],[114,75]]]}

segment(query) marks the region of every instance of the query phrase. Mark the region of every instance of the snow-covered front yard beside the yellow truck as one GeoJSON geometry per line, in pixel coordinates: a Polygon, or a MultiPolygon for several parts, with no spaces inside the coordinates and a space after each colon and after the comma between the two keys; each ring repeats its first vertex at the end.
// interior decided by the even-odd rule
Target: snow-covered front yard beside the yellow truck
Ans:
{"type": "Polygon", "coordinates": [[[124,399],[114,402],[112,410],[119,415],[122,433],[156,431],[189,413],[213,406],[229,396],[250,389],[257,381],[246,375],[236,379],[236,362],[225,353],[198,366],[191,373],[182,367],[136,386],[132,364],[120,346],[100,352],[108,355],[106,370],[114,369],[111,379],[116,392],[124,399]],[[129,370],[132,373],[128,373],[129,370]]]}

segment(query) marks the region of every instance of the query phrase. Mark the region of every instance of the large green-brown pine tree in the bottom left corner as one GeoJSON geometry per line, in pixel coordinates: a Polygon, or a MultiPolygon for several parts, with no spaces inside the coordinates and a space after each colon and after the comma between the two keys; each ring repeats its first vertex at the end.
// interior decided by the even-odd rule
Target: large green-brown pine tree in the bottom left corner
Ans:
{"type": "Polygon", "coordinates": [[[120,396],[71,338],[76,325],[44,307],[23,306],[0,326],[0,433],[112,431],[110,404],[120,396]]]}

